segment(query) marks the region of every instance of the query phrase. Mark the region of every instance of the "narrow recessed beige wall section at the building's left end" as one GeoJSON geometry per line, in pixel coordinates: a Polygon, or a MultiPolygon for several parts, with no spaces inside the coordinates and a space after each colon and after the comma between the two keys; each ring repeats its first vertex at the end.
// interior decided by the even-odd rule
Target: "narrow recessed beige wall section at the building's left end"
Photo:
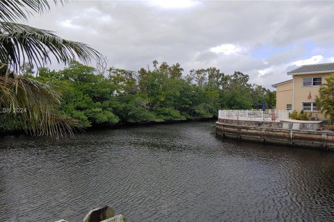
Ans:
{"type": "Polygon", "coordinates": [[[292,104],[292,82],[276,86],[276,110],[287,110],[287,104],[292,104]]]}

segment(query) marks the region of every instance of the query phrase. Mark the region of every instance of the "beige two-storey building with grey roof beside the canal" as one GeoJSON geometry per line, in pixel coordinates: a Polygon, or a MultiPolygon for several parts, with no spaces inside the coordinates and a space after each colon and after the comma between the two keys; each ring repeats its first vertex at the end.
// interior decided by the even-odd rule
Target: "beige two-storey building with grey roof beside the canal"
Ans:
{"type": "Polygon", "coordinates": [[[276,88],[276,110],[303,110],[311,115],[311,120],[325,119],[317,109],[315,98],[321,84],[333,74],[334,63],[303,65],[287,72],[291,80],[272,85],[276,88]]]}

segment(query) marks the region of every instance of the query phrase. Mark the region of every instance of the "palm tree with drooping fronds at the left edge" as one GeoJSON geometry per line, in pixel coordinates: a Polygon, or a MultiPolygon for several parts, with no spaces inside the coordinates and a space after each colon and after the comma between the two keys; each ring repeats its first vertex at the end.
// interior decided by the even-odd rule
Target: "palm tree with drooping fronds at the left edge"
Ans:
{"type": "Polygon", "coordinates": [[[76,57],[90,62],[100,56],[81,42],[63,40],[52,31],[17,23],[49,8],[47,0],[0,1],[0,130],[23,129],[31,135],[58,138],[72,134],[79,126],[77,121],[56,114],[60,97],[54,89],[18,74],[25,62],[43,67],[51,57],[66,64],[76,57]]]}

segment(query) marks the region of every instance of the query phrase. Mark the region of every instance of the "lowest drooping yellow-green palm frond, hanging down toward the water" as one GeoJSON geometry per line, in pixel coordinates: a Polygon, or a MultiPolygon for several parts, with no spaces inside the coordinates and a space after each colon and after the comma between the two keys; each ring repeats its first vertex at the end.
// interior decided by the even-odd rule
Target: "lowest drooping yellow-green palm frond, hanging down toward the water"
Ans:
{"type": "Polygon", "coordinates": [[[2,113],[1,118],[14,120],[17,129],[31,135],[58,138],[80,129],[79,121],[55,114],[59,98],[49,85],[31,78],[0,76],[0,108],[10,110],[2,113]]]}

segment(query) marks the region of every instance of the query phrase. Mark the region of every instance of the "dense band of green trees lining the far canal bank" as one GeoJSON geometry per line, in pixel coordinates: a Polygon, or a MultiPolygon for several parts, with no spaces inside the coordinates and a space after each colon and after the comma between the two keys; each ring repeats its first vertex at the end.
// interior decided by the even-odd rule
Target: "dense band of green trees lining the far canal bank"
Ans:
{"type": "Polygon", "coordinates": [[[180,64],[129,71],[111,67],[109,75],[73,61],[67,69],[40,69],[37,77],[61,96],[61,110],[84,126],[205,119],[217,117],[218,109],[273,108],[275,92],[248,83],[241,72],[225,75],[219,69],[191,70],[180,64]]]}

